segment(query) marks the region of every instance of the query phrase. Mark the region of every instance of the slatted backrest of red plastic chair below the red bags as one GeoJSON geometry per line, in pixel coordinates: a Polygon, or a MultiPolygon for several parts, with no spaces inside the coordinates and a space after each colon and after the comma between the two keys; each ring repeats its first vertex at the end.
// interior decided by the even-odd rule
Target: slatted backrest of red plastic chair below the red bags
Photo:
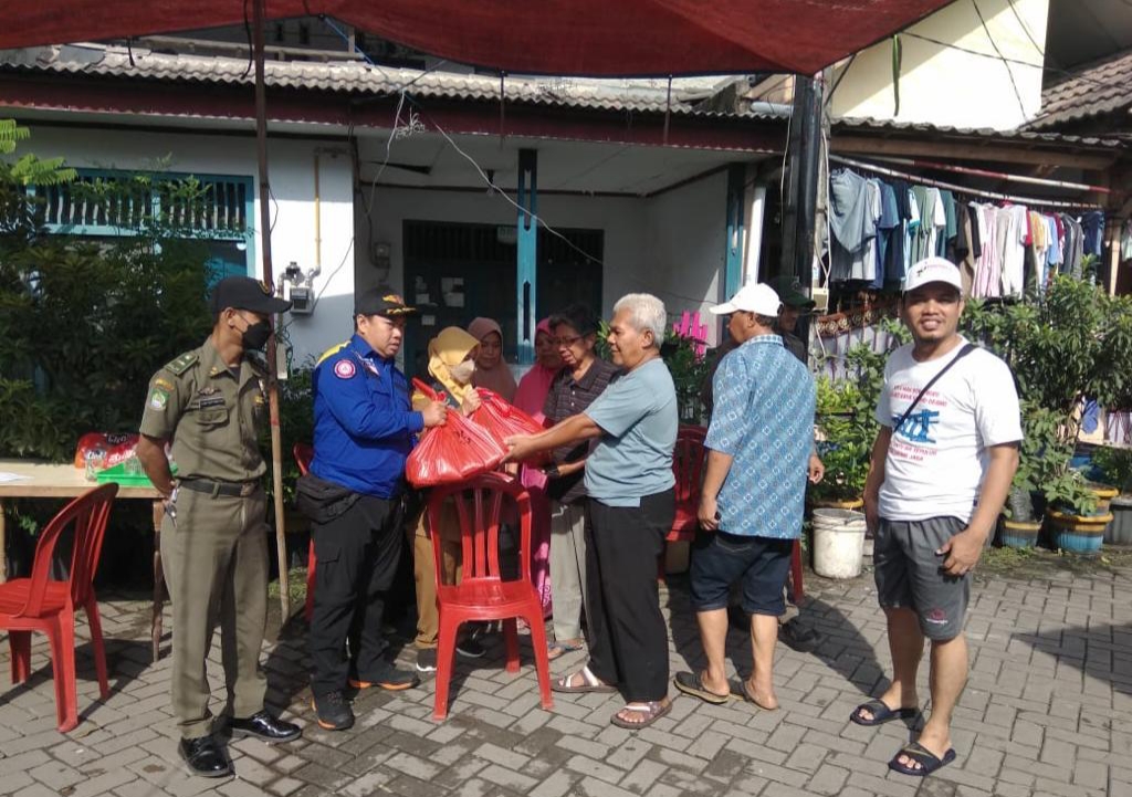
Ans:
{"type": "MultiPolygon", "coordinates": [[[[523,581],[531,581],[531,497],[515,479],[501,473],[483,473],[457,485],[432,488],[428,502],[429,529],[438,533],[446,499],[455,503],[463,551],[461,583],[470,580],[500,581],[499,517],[505,498],[518,506],[518,562],[523,581]]],[[[441,580],[441,557],[436,558],[436,577],[441,580]]]]}

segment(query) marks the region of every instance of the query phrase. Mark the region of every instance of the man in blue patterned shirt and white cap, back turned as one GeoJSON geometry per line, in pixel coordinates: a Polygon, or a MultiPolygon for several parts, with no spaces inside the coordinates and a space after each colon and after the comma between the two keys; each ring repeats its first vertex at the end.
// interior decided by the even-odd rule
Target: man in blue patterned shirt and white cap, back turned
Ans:
{"type": "Polygon", "coordinates": [[[729,316],[728,331],[740,345],[715,372],[700,503],[704,533],[692,554],[692,606],[707,669],[676,676],[677,688],[710,703],[729,699],[727,603],[738,582],[754,659],[743,692],[756,705],[778,708],[771,666],[790,552],[801,531],[815,402],[813,377],[773,332],[780,303],[769,285],[752,284],[711,308],[729,316]]]}

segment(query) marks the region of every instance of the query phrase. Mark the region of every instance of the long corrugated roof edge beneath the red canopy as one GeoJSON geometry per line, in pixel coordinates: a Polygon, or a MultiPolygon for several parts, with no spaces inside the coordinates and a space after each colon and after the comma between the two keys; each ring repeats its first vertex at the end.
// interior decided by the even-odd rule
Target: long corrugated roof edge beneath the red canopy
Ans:
{"type": "MultiPolygon", "coordinates": [[[[0,51],[0,69],[128,77],[173,83],[250,86],[255,82],[246,59],[216,55],[169,54],[135,49],[132,61],[125,48],[61,45],[0,51]]],[[[357,95],[396,94],[402,88],[415,97],[498,101],[499,78],[491,75],[421,71],[359,61],[267,61],[268,86],[357,95]]],[[[633,111],[696,117],[778,119],[789,115],[762,103],[745,113],[701,111],[696,105],[713,94],[724,78],[677,79],[671,108],[668,85],[658,79],[594,79],[507,76],[507,102],[604,111],[633,111]]]]}

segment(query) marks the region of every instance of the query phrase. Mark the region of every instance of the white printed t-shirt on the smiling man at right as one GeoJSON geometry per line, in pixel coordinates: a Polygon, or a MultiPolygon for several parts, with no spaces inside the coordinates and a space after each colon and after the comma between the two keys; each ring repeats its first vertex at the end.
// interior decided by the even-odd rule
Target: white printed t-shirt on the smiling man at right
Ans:
{"type": "MultiPolygon", "coordinates": [[[[876,420],[892,428],[919,392],[959,352],[917,362],[907,344],[889,357],[876,420]]],[[[1018,392],[1010,368],[975,349],[940,377],[892,432],[881,485],[881,517],[971,519],[986,475],[989,446],[1022,439],[1018,392]]]]}

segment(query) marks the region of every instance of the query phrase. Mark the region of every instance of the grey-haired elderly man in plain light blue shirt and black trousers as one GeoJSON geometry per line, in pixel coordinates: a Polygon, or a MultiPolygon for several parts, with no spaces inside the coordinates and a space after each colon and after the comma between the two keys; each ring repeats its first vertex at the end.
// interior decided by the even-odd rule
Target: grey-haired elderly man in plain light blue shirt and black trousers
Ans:
{"type": "Polygon", "coordinates": [[[590,661],[551,688],[620,692],[627,703],[610,721],[628,730],[648,728],[672,709],[668,628],[657,590],[658,559],[676,514],[672,447],[679,425],[676,386],[660,358],[666,325],[664,303],[657,297],[621,297],[607,340],[624,376],[584,412],[541,435],[507,440],[515,461],[574,440],[597,440],[585,461],[590,661]]]}

